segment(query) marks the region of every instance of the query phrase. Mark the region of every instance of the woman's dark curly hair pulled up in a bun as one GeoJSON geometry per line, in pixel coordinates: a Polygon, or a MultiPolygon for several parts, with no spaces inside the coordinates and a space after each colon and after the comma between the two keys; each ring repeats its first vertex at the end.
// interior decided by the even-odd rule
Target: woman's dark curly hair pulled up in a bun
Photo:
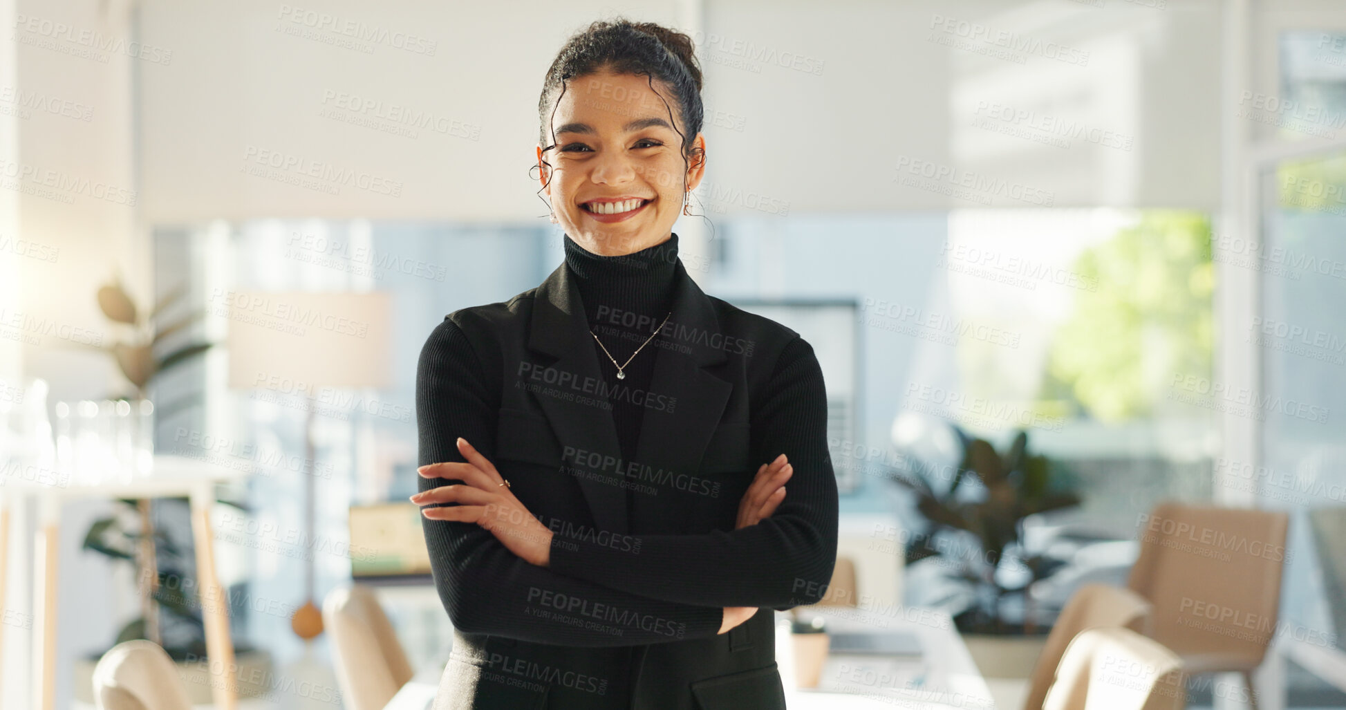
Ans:
{"type": "MultiPolygon", "coordinates": [[[[701,105],[701,66],[696,61],[692,38],[660,24],[635,23],[625,18],[591,23],[571,35],[552,61],[542,81],[542,93],[537,100],[538,143],[544,146],[544,154],[556,147],[556,135],[548,139],[548,132],[552,129],[552,116],[561,96],[565,94],[568,82],[602,69],[610,69],[615,74],[645,75],[654,96],[660,96],[654,92],[654,81],[666,86],[677,102],[678,115],[686,128],[686,133],[678,131],[682,137],[682,163],[690,168],[689,160],[693,155],[704,160],[703,151],[693,147],[688,137],[696,137],[701,132],[701,121],[705,117],[701,105]]],[[[664,105],[669,109],[669,123],[677,131],[673,108],[668,101],[664,101],[664,105]]],[[[552,167],[545,158],[542,163],[552,167]]],[[[685,172],[682,187],[686,193],[685,172]]]]}

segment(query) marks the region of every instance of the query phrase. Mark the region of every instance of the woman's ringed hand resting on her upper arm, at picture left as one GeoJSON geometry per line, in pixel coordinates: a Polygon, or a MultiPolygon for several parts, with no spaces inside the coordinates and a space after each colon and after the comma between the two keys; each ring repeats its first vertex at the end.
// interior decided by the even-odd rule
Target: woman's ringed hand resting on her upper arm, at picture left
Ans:
{"type": "Polygon", "coordinates": [[[528,512],[509,486],[501,485],[505,478],[467,439],[458,438],[458,451],[467,459],[466,463],[427,463],[416,472],[425,478],[455,478],[463,482],[423,490],[411,497],[412,503],[456,503],[458,505],[448,508],[421,508],[421,515],[432,520],[476,523],[516,555],[546,567],[552,559],[555,534],[528,512]]]}

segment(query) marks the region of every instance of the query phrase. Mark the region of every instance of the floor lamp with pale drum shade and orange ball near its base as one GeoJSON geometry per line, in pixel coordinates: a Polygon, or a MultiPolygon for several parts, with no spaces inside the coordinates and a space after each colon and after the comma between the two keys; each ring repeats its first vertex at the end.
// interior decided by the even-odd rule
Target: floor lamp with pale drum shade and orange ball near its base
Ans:
{"type": "MultiPolygon", "coordinates": [[[[385,291],[261,292],[234,291],[229,296],[229,387],[267,392],[277,397],[306,397],[304,422],[304,531],[312,544],[314,524],[314,416],[331,388],[385,388],[390,384],[390,309],[385,291]]],[[[314,601],[314,558],[306,555],[304,604],[291,626],[304,641],[323,632],[314,601]]]]}

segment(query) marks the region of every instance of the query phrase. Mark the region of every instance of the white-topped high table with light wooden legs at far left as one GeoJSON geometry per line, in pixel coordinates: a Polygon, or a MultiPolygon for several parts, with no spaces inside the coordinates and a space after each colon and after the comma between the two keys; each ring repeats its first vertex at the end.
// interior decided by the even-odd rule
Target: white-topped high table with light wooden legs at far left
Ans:
{"type": "MultiPolygon", "coordinates": [[[[197,577],[202,590],[201,614],[206,625],[206,649],[210,668],[229,672],[234,666],[234,647],[229,639],[229,598],[215,574],[214,529],[210,508],[215,503],[214,484],[246,477],[238,472],[187,457],[156,455],[151,473],[125,481],[81,484],[61,481],[15,480],[0,486],[0,608],[5,598],[5,563],[8,562],[9,507],[32,497],[39,503],[39,528],[34,540],[32,563],[32,663],[31,707],[54,710],[57,683],[57,562],[61,540],[61,503],[66,498],[157,498],[191,500],[191,532],[197,547],[197,577]]],[[[0,624],[0,635],[4,625],[0,624]]],[[[0,648],[3,648],[0,636],[0,648]]],[[[0,667],[3,668],[3,667],[0,667]]],[[[236,710],[234,683],[213,683],[217,710],[236,710]]]]}

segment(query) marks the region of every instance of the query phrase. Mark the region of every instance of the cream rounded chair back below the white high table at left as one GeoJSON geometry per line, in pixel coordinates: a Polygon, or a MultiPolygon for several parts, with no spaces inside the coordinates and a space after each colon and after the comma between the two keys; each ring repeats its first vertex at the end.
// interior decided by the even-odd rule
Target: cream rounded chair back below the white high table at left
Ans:
{"type": "Polygon", "coordinates": [[[144,639],[122,641],[98,659],[93,697],[98,710],[191,710],[178,666],[144,639]]]}

